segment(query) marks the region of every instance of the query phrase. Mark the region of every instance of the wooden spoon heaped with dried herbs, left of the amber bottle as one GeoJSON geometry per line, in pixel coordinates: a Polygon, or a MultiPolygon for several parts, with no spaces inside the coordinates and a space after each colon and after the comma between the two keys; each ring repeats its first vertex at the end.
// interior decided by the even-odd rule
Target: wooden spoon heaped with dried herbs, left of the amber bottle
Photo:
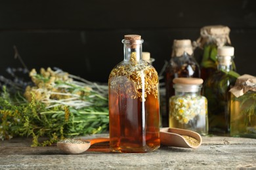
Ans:
{"type": "Polygon", "coordinates": [[[96,139],[75,139],[76,142],[70,141],[70,143],[63,143],[62,141],[59,141],[57,143],[57,146],[60,150],[65,152],[66,154],[81,154],[85,152],[91,145],[95,143],[103,143],[108,142],[110,139],[108,138],[96,138],[96,139]]]}

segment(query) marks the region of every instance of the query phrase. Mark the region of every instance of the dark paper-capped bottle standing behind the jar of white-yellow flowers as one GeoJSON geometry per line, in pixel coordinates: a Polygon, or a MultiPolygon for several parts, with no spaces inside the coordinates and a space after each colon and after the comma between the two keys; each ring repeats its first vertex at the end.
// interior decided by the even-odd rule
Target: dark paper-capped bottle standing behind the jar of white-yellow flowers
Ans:
{"type": "Polygon", "coordinates": [[[173,79],[177,77],[200,78],[200,67],[193,57],[192,43],[189,39],[174,40],[171,59],[165,69],[166,115],[163,114],[162,124],[168,125],[169,98],[175,95],[173,79]]]}

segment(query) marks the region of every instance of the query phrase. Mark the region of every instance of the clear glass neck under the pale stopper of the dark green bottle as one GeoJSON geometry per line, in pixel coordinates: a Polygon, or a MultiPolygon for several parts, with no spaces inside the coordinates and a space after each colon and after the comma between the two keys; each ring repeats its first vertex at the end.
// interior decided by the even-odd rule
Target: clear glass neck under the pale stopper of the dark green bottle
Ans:
{"type": "Polygon", "coordinates": [[[217,56],[217,69],[219,71],[232,71],[233,70],[233,58],[234,56],[217,56]]]}

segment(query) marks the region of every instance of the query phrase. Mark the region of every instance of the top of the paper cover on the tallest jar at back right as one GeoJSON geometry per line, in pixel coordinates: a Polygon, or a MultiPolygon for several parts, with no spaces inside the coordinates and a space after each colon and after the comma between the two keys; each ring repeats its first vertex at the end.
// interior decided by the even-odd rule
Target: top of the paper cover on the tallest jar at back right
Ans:
{"type": "Polygon", "coordinates": [[[228,35],[230,33],[230,28],[224,25],[207,25],[205,27],[202,27],[201,35],[228,35]]]}

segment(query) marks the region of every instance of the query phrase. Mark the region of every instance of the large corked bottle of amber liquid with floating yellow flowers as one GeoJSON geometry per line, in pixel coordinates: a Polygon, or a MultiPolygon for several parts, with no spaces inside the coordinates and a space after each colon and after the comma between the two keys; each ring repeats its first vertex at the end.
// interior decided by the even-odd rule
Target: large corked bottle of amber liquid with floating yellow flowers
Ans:
{"type": "Polygon", "coordinates": [[[124,59],[108,78],[110,150],[150,152],[160,147],[158,73],[142,60],[140,35],[125,35],[124,59]]]}

